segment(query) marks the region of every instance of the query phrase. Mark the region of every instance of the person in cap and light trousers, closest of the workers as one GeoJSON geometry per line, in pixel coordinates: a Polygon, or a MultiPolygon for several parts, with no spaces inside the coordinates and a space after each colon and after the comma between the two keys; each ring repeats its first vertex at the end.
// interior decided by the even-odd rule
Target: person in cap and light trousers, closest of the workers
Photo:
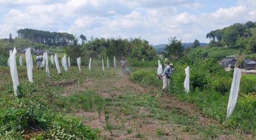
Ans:
{"type": "Polygon", "coordinates": [[[163,73],[163,92],[166,92],[168,90],[168,80],[170,79],[170,76],[173,72],[173,64],[169,64],[164,69],[163,73]]]}

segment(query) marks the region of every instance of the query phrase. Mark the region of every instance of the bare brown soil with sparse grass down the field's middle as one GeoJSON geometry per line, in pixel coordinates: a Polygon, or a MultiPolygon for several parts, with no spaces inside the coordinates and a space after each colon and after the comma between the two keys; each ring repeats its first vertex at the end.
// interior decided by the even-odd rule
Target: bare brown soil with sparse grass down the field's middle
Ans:
{"type": "Polygon", "coordinates": [[[85,125],[99,129],[99,136],[104,139],[250,139],[250,136],[230,132],[218,121],[205,116],[195,105],[159,92],[161,87],[141,87],[133,83],[127,74],[119,72],[110,78],[88,78],[82,84],[68,85],[62,95],[83,90],[92,90],[106,100],[111,99],[111,103],[107,104],[108,120],[105,119],[106,113],[100,116],[98,112],[74,113],[84,118],[85,125]],[[122,102],[129,104],[132,100],[136,101],[136,97],[141,95],[145,95],[145,98],[152,96],[156,99],[157,109],[166,111],[168,115],[157,116],[147,106],[120,105],[122,102]],[[135,98],[126,100],[131,96],[135,98]],[[118,100],[120,97],[121,101],[118,100]],[[179,120],[179,117],[184,118],[179,120]],[[180,122],[186,118],[188,123],[180,122]]]}

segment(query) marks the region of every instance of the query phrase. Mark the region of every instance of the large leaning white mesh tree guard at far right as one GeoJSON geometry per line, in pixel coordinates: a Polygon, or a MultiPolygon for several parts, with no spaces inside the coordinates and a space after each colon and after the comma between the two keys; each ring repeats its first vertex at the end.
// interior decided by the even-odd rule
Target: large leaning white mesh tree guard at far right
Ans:
{"type": "Polygon", "coordinates": [[[239,92],[240,80],[241,80],[241,69],[236,67],[234,70],[233,81],[232,81],[230,95],[229,95],[229,99],[228,99],[227,118],[232,115],[234,108],[236,106],[236,100],[237,100],[237,95],[239,92]]]}

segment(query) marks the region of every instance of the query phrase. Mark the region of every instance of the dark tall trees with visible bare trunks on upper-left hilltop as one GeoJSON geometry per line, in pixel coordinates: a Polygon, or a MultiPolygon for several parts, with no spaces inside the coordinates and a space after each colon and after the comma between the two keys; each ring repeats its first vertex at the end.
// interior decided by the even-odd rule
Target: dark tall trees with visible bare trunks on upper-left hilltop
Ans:
{"type": "Polygon", "coordinates": [[[74,35],[67,32],[49,32],[35,29],[19,29],[18,38],[28,39],[49,46],[67,46],[74,41],[74,35]]]}

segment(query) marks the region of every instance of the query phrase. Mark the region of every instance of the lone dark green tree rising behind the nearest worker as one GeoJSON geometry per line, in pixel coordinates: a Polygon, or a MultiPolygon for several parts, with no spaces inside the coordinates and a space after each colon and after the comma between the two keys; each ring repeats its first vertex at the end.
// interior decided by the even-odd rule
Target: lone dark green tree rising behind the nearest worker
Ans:
{"type": "Polygon", "coordinates": [[[176,37],[169,38],[168,45],[165,45],[163,50],[163,55],[166,58],[171,60],[178,60],[184,55],[184,46],[181,43],[181,40],[177,40],[176,37]]]}

